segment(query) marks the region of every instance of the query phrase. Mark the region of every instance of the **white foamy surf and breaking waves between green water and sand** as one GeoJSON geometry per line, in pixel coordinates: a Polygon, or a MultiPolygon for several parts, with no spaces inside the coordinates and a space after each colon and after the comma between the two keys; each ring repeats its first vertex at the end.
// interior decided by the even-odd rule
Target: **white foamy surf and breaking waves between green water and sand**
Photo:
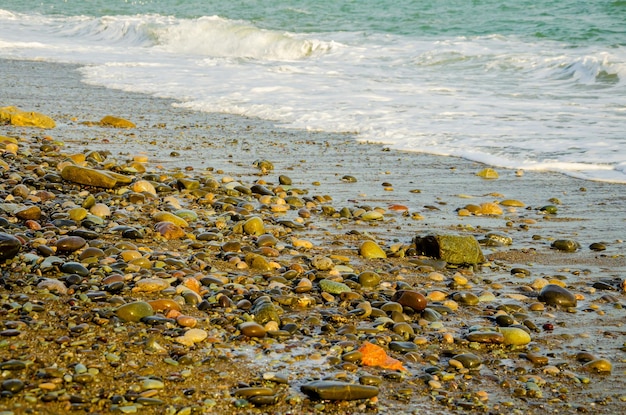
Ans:
{"type": "Polygon", "coordinates": [[[88,83],[508,168],[626,183],[626,49],[515,36],[298,34],[217,16],[0,10],[0,57],[88,83]]]}

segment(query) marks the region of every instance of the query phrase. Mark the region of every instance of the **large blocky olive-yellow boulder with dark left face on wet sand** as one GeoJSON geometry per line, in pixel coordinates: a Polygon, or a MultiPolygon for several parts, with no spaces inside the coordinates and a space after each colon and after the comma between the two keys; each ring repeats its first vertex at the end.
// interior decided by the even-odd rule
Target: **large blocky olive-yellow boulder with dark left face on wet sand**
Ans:
{"type": "Polygon", "coordinates": [[[441,259],[450,264],[485,262],[478,241],[471,235],[417,236],[414,243],[418,254],[441,259]]]}

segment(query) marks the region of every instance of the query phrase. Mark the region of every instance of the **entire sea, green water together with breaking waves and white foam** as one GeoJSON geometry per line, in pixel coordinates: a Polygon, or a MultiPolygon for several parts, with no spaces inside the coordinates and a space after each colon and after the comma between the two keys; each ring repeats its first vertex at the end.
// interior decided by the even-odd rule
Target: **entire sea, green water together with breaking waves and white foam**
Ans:
{"type": "Polygon", "coordinates": [[[86,83],[197,111],[626,183],[625,0],[2,0],[0,58],[78,64],[86,83]]]}

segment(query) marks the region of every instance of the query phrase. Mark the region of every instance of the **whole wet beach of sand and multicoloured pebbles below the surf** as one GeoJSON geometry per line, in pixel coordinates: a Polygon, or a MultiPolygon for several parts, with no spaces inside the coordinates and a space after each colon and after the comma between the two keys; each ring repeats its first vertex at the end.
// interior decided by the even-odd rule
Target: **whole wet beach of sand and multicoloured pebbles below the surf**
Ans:
{"type": "Polygon", "coordinates": [[[623,412],[624,185],[0,68],[1,415],[623,412]]]}

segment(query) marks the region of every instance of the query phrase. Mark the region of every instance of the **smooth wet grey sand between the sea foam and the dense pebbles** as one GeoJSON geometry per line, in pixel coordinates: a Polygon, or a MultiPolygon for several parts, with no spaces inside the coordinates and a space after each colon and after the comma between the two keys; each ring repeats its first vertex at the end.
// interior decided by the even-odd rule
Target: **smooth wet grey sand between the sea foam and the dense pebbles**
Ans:
{"type": "MultiPolygon", "coordinates": [[[[496,297],[494,301],[479,303],[479,306],[461,306],[454,317],[444,318],[444,328],[448,328],[447,332],[458,340],[452,345],[442,340],[441,333],[446,330],[438,331],[429,326],[424,326],[423,331],[412,339],[420,343],[421,338],[426,338],[426,345],[419,357],[413,357],[415,361],[407,363],[411,366],[410,375],[402,378],[400,389],[414,387],[417,392],[398,396],[392,391],[399,386],[394,381],[385,380],[376,405],[334,403],[322,408],[312,403],[296,406],[300,410],[337,413],[400,413],[406,410],[410,413],[420,408],[446,413],[464,407],[462,402],[459,403],[463,400],[459,389],[464,387],[468,388],[470,395],[485,390],[489,394],[488,400],[481,405],[466,406],[491,413],[543,413],[546,410],[617,413],[624,405],[624,292],[619,285],[626,272],[621,240],[626,228],[623,185],[582,181],[546,172],[518,175],[505,169],[496,169],[498,179],[485,180],[476,173],[487,166],[462,159],[389,151],[378,144],[358,143],[349,134],[295,131],[262,120],[195,113],[176,107],[171,100],[87,86],[80,82],[76,68],[69,65],[0,61],[0,68],[4,74],[0,81],[0,106],[15,105],[42,112],[57,122],[55,129],[45,132],[0,126],[2,135],[24,139],[49,135],[64,143],[62,152],[66,154],[95,150],[110,152],[117,160],[141,154],[148,158],[146,166],[149,171],[163,174],[178,171],[220,180],[231,177],[242,183],[263,180],[268,187],[278,185],[279,175],[287,175],[294,188],[303,189],[308,197],[326,200],[325,204],[337,212],[342,208],[354,210],[359,207],[366,210],[380,208],[385,212],[384,219],[375,222],[315,214],[315,220],[297,234],[299,238],[315,243],[315,248],[306,256],[347,256],[355,273],[375,269],[392,288],[397,281],[405,281],[424,293],[445,291],[450,298],[457,291],[471,291],[477,295],[488,292],[496,297]],[[115,130],[84,124],[105,115],[127,118],[136,123],[137,128],[115,130]],[[256,164],[262,160],[270,161],[274,169],[261,172],[256,164]],[[525,206],[504,207],[503,214],[495,216],[459,216],[457,212],[468,204],[507,199],[519,200],[525,206]],[[405,206],[407,210],[396,212],[391,208],[393,205],[405,206]],[[546,205],[556,206],[558,213],[545,214],[541,208],[546,205]],[[363,260],[358,255],[358,244],[364,237],[393,252],[396,245],[410,245],[416,235],[461,233],[482,239],[489,232],[510,237],[512,244],[483,246],[488,262],[480,269],[465,271],[470,283],[461,287],[450,283],[454,281],[455,269],[440,270],[445,278],[437,281],[431,273],[416,266],[411,258],[389,258],[379,264],[363,260]],[[551,244],[557,239],[575,240],[581,248],[573,253],[552,249],[551,244]],[[592,243],[603,243],[606,250],[590,250],[592,243]],[[511,275],[513,268],[524,268],[530,276],[511,275]],[[530,318],[539,329],[531,333],[533,343],[529,349],[548,356],[550,370],[526,365],[524,359],[519,358],[521,353],[527,352],[526,349],[496,352],[495,356],[501,362],[490,361],[489,364],[485,357],[489,350],[478,349],[476,353],[484,358],[484,369],[479,375],[461,372],[456,373],[452,381],[442,381],[441,388],[422,386],[424,382],[420,381],[427,367],[440,366],[447,370],[450,354],[468,350],[469,346],[463,342],[464,330],[473,324],[485,324],[488,310],[495,310],[509,301],[524,306],[531,304],[538,291],[532,288],[532,284],[538,278],[560,280],[579,296],[575,310],[547,308],[530,318]],[[608,284],[606,289],[594,288],[594,284],[606,281],[614,285],[608,284]],[[610,290],[610,287],[616,289],[610,290]],[[556,329],[543,330],[541,327],[546,323],[553,324],[556,329]],[[613,366],[611,374],[582,374],[582,362],[575,358],[581,352],[608,359],[613,366]],[[434,359],[432,355],[437,355],[437,359],[430,364],[434,359]],[[518,372],[522,369],[524,374],[520,375],[518,372]],[[503,386],[496,379],[500,376],[510,378],[510,383],[517,386],[503,386]],[[516,395],[516,388],[532,390],[524,385],[524,376],[526,383],[539,377],[548,386],[537,381],[541,395],[527,392],[516,395]],[[415,386],[417,384],[419,386],[415,386]],[[448,397],[452,403],[442,403],[448,397]]],[[[319,205],[321,210],[322,203],[319,205]]],[[[295,210],[287,212],[285,217],[296,218],[295,210]]],[[[414,323],[419,325],[420,321],[416,318],[414,323]]],[[[355,343],[362,341],[363,336],[357,337],[355,343]]],[[[251,354],[239,352],[242,365],[247,367],[244,372],[254,377],[276,370],[276,365],[256,354],[259,345],[252,343],[239,345],[241,350],[252,350],[251,354]]],[[[307,342],[303,341],[303,344],[307,342]]],[[[295,349],[293,345],[285,348],[275,342],[268,342],[263,347],[276,355],[289,354],[287,349],[295,349]]],[[[306,348],[299,353],[309,358],[314,354],[306,348]]],[[[333,349],[332,353],[336,350],[333,349]]],[[[328,356],[332,353],[328,352],[328,356]]],[[[10,355],[5,350],[2,358],[15,358],[10,355]]],[[[402,354],[396,353],[395,356],[403,360],[402,354]]],[[[232,358],[237,359],[237,352],[232,358]]],[[[319,363],[316,359],[307,360],[314,365],[319,363]]],[[[329,376],[341,372],[328,359],[322,361],[329,376]]],[[[288,394],[304,400],[302,394],[298,394],[298,386],[310,378],[308,365],[300,362],[298,366],[296,361],[278,366],[286,366],[287,370],[295,372],[298,367],[303,368],[302,374],[291,380],[288,394]]],[[[359,367],[357,371],[361,373],[366,369],[359,367]]],[[[352,373],[344,371],[349,375],[352,373]]],[[[248,378],[236,375],[225,376],[224,389],[236,387],[237,382],[250,382],[248,378]]],[[[442,376],[436,381],[441,379],[447,378],[442,376]]],[[[276,408],[295,405],[296,401],[283,400],[276,408]]],[[[21,410],[11,408],[10,401],[0,404],[9,411],[21,410]]],[[[28,406],[23,405],[22,408],[28,406]]],[[[45,408],[45,405],[38,405],[45,408]]],[[[105,408],[111,406],[105,405],[105,408]]],[[[168,413],[165,408],[154,409],[154,413],[168,413]]],[[[224,407],[219,408],[223,410],[224,407]]],[[[236,411],[234,406],[230,408],[236,411]]],[[[273,412],[271,408],[269,411],[273,412]]],[[[264,409],[258,411],[263,413],[264,409]]]]}

